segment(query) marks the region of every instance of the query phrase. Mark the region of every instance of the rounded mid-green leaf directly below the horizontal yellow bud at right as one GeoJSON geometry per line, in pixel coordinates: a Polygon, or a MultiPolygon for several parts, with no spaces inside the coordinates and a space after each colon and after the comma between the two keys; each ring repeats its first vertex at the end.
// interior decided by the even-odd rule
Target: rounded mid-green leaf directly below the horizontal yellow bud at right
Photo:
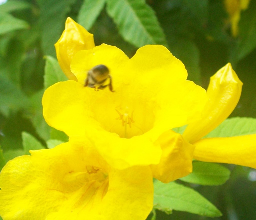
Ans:
{"type": "Polygon", "coordinates": [[[219,164],[193,161],[193,172],[180,180],[200,185],[217,186],[229,179],[230,171],[219,164]]]}

